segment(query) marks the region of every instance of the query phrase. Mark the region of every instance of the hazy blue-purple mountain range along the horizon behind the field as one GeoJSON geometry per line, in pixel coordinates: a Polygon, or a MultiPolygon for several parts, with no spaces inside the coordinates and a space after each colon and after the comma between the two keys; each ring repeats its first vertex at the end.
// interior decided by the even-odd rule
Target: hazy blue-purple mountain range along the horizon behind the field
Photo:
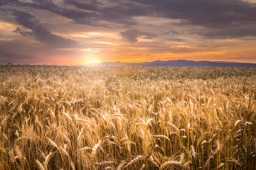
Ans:
{"type": "Polygon", "coordinates": [[[152,61],[152,62],[100,62],[91,63],[87,66],[155,66],[155,67],[201,67],[201,66],[216,66],[216,67],[256,67],[256,63],[248,62],[227,62],[227,61],[190,61],[190,60],[168,60],[168,61],[152,61]]]}

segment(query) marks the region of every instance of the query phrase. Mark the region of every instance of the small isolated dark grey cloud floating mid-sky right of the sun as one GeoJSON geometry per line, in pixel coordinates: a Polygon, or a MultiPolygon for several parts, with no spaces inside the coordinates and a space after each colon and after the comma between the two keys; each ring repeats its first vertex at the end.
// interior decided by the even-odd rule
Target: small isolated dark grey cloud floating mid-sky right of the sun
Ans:
{"type": "Polygon", "coordinates": [[[126,30],[124,32],[120,32],[120,35],[131,43],[135,43],[138,41],[138,37],[142,37],[142,39],[153,39],[156,38],[158,35],[155,33],[140,31],[137,29],[126,30]]]}

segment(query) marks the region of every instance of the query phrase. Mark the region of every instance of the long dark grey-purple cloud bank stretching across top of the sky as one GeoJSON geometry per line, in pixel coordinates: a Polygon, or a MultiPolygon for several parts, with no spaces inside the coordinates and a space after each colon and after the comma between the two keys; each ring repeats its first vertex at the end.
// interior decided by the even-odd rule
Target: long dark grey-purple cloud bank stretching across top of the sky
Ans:
{"type": "MultiPolygon", "coordinates": [[[[2,4],[7,4],[1,1],[2,4]]],[[[151,0],[151,1],[9,1],[34,9],[44,9],[62,15],[73,23],[112,28],[111,23],[135,26],[134,17],[176,19],[176,25],[200,25],[207,28],[231,28],[256,23],[256,3],[241,0],[151,0]],[[110,23],[106,23],[110,22],[110,23]]]]}

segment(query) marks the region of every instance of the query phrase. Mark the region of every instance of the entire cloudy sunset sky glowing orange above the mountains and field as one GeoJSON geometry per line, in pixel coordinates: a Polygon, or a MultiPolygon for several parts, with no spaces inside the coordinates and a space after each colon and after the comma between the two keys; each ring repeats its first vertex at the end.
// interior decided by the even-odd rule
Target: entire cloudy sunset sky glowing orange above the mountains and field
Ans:
{"type": "Polygon", "coordinates": [[[256,63],[254,0],[0,0],[0,64],[256,63]]]}

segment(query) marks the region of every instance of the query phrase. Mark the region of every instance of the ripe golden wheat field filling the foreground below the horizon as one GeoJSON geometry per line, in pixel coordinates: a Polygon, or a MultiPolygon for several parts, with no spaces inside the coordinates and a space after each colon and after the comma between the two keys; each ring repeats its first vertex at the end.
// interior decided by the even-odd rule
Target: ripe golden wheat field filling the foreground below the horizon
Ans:
{"type": "Polygon", "coordinates": [[[0,169],[256,169],[256,68],[0,65],[0,169]],[[110,92],[115,77],[150,78],[110,92]]]}

